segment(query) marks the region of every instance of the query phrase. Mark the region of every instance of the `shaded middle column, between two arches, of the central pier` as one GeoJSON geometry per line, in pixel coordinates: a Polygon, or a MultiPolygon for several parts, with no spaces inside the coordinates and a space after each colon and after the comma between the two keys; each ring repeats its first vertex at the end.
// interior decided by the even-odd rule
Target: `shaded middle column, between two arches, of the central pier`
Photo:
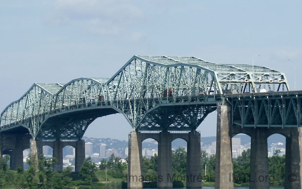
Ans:
{"type": "Polygon", "coordinates": [[[159,133],[157,166],[157,188],[159,189],[171,189],[173,187],[171,136],[169,132],[159,133]]]}

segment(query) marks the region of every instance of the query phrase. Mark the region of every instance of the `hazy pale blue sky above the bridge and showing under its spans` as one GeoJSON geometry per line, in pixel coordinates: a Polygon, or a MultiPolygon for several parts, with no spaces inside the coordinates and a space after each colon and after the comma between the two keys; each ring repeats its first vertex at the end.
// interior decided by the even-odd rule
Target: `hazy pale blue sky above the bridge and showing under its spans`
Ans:
{"type": "MultiPolygon", "coordinates": [[[[111,77],[133,55],[235,64],[261,55],[255,64],[283,71],[292,90],[296,75],[302,90],[301,8],[301,0],[1,0],[0,112],[34,82],[111,77]]],[[[85,136],[127,139],[131,130],[110,115],[85,136]]],[[[215,135],[215,113],[197,130],[215,135]]]]}

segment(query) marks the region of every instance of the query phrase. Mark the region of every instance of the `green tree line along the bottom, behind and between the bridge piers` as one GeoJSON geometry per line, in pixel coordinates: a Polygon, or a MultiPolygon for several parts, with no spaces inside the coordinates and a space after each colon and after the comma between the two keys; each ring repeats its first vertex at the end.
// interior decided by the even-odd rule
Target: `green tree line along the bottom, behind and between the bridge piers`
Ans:
{"type": "MultiPolygon", "coordinates": [[[[269,157],[269,174],[274,176],[275,186],[284,184],[285,156],[279,156],[278,151],[269,157]]],[[[118,185],[121,188],[125,185],[127,175],[127,159],[122,162],[121,158],[114,154],[108,160],[103,159],[99,166],[96,166],[90,158],[84,160],[78,173],[72,172],[68,167],[62,172],[55,171],[54,164],[56,159],[47,159],[43,154],[38,155],[38,168],[35,167],[35,158],[29,158],[27,163],[29,168],[23,170],[10,170],[8,166],[9,156],[0,157],[0,188],[13,187],[30,189],[71,189],[71,188],[106,188],[106,184],[99,182],[105,181],[98,179],[96,175],[106,174],[115,181],[123,182],[124,185],[118,185]]],[[[143,157],[142,171],[144,178],[152,180],[151,175],[157,175],[158,157],[155,154],[151,158],[143,157]],[[149,177],[148,177],[149,176],[149,177]]],[[[205,151],[201,151],[201,175],[203,181],[215,182],[215,155],[209,156],[205,151]]],[[[242,155],[233,159],[234,183],[247,186],[249,183],[250,170],[250,149],[243,151],[242,155]]],[[[172,171],[176,176],[187,174],[187,152],[185,148],[172,151],[172,171]]],[[[107,176],[107,175],[106,175],[107,176]]],[[[108,179],[107,181],[111,181],[108,179]]],[[[184,181],[185,183],[185,181],[184,181]]],[[[156,185],[155,185],[156,186],[156,185]]],[[[111,186],[112,187],[112,186],[111,186]]],[[[114,188],[114,187],[113,187],[114,188]]]]}

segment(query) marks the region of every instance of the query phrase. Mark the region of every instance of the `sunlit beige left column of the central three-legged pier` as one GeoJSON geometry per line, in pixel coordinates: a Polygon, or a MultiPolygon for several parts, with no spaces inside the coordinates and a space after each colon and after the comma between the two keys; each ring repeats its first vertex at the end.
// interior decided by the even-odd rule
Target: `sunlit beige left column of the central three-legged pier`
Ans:
{"type": "Polygon", "coordinates": [[[129,133],[128,189],[142,189],[142,139],[137,131],[129,133]]]}

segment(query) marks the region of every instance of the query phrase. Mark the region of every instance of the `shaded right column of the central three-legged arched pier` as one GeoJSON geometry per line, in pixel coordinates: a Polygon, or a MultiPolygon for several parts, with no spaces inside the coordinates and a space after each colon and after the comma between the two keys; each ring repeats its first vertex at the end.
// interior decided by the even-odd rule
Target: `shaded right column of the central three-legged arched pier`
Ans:
{"type": "Polygon", "coordinates": [[[189,141],[187,143],[187,188],[201,188],[201,151],[200,151],[200,133],[189,132],[189,141]]]}

